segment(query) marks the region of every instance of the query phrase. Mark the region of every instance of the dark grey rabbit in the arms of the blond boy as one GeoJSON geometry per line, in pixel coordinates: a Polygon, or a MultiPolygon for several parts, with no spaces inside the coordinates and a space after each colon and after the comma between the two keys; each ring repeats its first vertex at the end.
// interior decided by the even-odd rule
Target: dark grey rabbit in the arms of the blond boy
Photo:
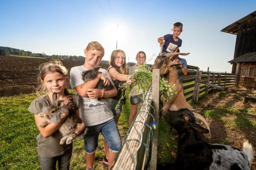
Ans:
{"type": "MultiPolygon", "coordinates": [[[[98,70],[100,69],[100,67],[95,67],[94,69],[89,69],[86,70],[84,72],[82,72],[82,79],[84,80],[84,82],[93,80],[97,77],[99,72],[98,70]]],[[[111,90],[113,88],[113,85],[111,83],[109,83],[108,86],[104,86],[103,84],[103,80],[100,79],[100,81],[98,81],[98,84],[96,85],[95,89],[105,89],[105,90],[111,90]]],[[[98,100],[100,100],[100,98],[98,98],[98,100]]]]}

